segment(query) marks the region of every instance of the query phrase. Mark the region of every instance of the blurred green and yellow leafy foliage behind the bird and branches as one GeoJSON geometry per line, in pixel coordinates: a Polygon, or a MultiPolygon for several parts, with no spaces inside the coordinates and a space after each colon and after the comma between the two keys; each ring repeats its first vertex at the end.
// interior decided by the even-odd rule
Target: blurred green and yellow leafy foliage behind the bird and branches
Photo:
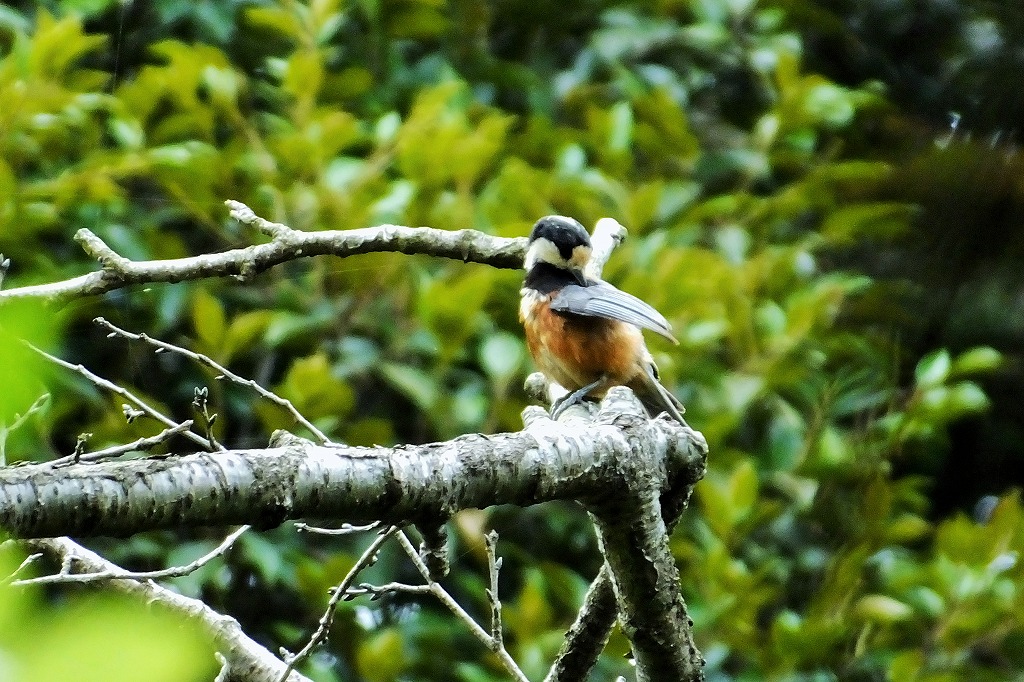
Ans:
{"type": "MultiPolygon", "coordinates": [[[[134,259],[265,239],[224,199],[311,230],[519,236],[547,213],[613,216],[631,239],[605,275],[678,330],[680,346],[651,348],[711,445],[673,538],[708,678],[1018,679],[1022,29],[1015,3],[982,0],[7,3],[4,286],[94,269],[80,227],[134,259]]],[[[80,433],[100,447],[160,430],[17,338],[181,419],[208,386],[231,445],[295,428],[211,373],[106,339],[98,314],[257,379],[350,443],[515,430],[520,278],[376,254],[5,308],[3,423],[52,397],[0,429],[4,451],[45,460],[80,433]]],[[[488,527],[506,641],[540,679],[599,564],[592,530],[570,505],[457,517],[446,585],[481,617],[488,527]]],[[[159,567],[218,537],[93,545],[159,567]]],[[[366,542],[250,532],[174,585],[294,650],[366,542]]],[[[369,577],[414,580],[396,552],[369,577]]],[[[77,655],[45,625],[76,612],[90,636],[139,647],[132,671],[180,646],[198,663],[175,679],[213,674],[208,652],[161,634],[178,625],[129,637],[111,614],[132,607],[93,592],[2,598],[43,624],[0,646],[19,679],[62,679],[32,652],[77,655]]],[[[627,647],[613,636],[594,679],[629,675],[627,647]]],[[[99,658],[82,666],[105,674],[99,658]]],[[[446,613],[408,598],[344,604],[305,672],[503,679],[446,613]]]]}

